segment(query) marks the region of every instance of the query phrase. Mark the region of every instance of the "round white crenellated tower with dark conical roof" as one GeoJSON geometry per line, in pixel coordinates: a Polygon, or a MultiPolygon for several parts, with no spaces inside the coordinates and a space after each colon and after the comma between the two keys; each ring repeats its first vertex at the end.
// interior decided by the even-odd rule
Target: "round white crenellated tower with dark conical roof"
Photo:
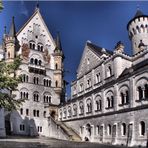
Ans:
{"type": "Polygon", "coordinates": [[[144,15],[138,9],[134,18],[127,24],[127,30],[132,41],[133,54],[148,45],[148,15],[144,15]]]}

